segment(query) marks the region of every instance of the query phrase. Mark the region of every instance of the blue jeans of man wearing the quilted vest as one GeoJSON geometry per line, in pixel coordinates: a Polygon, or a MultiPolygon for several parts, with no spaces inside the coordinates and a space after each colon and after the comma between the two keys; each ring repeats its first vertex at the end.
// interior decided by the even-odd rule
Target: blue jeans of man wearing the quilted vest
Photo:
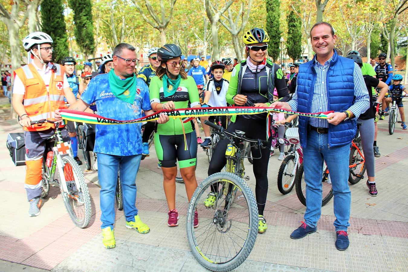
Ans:
{"type": "Polygon", "coordinates": [[[306,182],[305,223],[315,228],[322,212],[323,162],[330,172],[334,195],[333,225],[338,230],[350,226],[351,192],[348,187],[350,144],[328,148],[328,134],[309,130],[306,148],[303,149],[304,177],[306,182]]]}

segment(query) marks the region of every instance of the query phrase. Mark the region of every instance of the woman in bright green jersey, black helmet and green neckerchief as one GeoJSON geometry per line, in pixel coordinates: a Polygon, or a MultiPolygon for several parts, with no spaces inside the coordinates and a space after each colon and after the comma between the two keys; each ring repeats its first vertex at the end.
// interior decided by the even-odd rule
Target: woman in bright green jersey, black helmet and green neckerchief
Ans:
{"type": "MultiPolygon", "coordinates": [[[[175,44],[165,44],[157,50],[160,66],[152,77],[149,91],[153,111],[177,108],[200,108],[197,85],[193,77],[182,69],[181,49],[175,44]]],[[[186,186],[188,201],[197,188],[195,163],[197,160],[197,138],[192,122],[183,123],[181,118],[170,118],[166,124],[158,124],[155,133],[155,149],[163,171],[163,187],[169,205],[168,226],[178,226],[175,208],[176,160],[186,186]]],[[[195,212],[194,227],[198,226],[195,212]]]]}

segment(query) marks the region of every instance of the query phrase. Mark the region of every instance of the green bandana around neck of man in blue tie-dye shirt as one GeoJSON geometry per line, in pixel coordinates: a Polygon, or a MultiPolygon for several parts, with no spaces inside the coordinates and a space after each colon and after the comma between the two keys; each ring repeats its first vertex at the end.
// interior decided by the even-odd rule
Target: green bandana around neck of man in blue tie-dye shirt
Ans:
{"type": "Polygon", "coordinates": [[[112,69],[109,72],[109,86],[111,87],[111,92],[118,99],[130,103],[133,105],[136,96],[136,75],[128,77],[124,80],[120,79],[112,69]]]}

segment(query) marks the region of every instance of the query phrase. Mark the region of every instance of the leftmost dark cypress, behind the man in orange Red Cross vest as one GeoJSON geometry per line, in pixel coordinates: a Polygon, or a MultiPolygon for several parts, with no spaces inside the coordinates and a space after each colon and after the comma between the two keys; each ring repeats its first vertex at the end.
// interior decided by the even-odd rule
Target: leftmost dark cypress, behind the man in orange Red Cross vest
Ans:
{"type": "Polygon", "coordinates": [[[67,29],[61,0],[44,0],[41,4],[42,31],[53,39],[52,61],[59,63],[69,55],[67,29]]]}

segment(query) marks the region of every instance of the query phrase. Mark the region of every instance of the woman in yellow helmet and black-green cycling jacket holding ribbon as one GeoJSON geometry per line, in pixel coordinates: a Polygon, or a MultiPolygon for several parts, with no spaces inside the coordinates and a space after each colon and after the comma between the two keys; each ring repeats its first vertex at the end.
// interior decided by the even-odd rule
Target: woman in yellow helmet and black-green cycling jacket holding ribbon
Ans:
{"type": "MultiPolygon", "coordinates": [[[[277,64],[266,60],[267,42],[269,36],[266,31],[259,28],[251,29],[244,34],[246,44],[246,60],[238,63],[231,75],[231,80],[226,94],[229,104],[238,106],[266,107],[273,102],[273,90],[276,88],[279,101],[289,100],[288,88],[283,77],[282,70],[277,64]]],[[[227,131],[241,130],[245,136],[251,139],[266,139],[267,114],[238,115],[231,119],[233,124],[228,126],[227,131]]],[[[228,141],[221,140],[214,150],[213,157],[208,168],[208,175],[220,172],[226,164],[225,150],[228,141]]],[[[271,146],[271,144],[269,144],[271,146]]],[[[251,147],[253,157],[253,171],[256,179],[255,196],[258,204],[258,232],[264,233],[267,229],[264,218],[266,194],[268,192],[268,149],[255,149],[251,147]]],[[[215,191],[215,190],[214,190],[215,191]]],[[[206,206],[215,202],[215,192],[210,192],[206,199],[206,206]]]]}

